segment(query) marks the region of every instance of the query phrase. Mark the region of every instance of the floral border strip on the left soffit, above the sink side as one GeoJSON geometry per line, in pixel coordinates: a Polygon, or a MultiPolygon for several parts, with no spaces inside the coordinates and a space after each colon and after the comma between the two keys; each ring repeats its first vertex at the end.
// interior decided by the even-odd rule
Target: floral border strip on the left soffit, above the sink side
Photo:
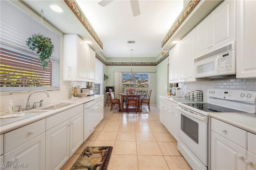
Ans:
{"type": "Polygon", "coordinates": [[[93,30],[90,22],[86,19],[83,12],[80,10],[78,5],[74,0],[64,0],[64,2],[68,5],[68,7],[72,10],[72,12],[76,15],[76,17],[80,20],[86,30],[91,34],[97,44],[103,49],[103,43],[100,41],[100,38],[97,36],[96,32],[93,30]]]}

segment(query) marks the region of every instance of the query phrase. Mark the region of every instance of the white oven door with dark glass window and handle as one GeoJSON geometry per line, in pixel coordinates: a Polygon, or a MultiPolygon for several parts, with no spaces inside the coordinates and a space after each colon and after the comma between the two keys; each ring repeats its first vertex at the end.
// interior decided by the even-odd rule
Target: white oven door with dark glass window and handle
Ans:
{"type": "Polygon", "coordinates": [[[178,106],[178,137],[205,165],[208,165],[208,116],[178,106]]]}

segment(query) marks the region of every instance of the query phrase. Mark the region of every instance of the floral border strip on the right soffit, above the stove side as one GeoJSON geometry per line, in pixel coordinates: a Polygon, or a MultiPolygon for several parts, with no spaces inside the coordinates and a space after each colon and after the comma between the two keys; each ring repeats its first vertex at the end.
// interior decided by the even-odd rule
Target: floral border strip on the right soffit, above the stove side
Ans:
{"type": "Polygon", "coordinates": [[[186,8],[182,11],[178,19],[172,25],[172,28],[170,28],[167,35],[164,37],[164,40],[162,40],[162,48],[200,1],[201,0],[190,0],[186,8]]]}

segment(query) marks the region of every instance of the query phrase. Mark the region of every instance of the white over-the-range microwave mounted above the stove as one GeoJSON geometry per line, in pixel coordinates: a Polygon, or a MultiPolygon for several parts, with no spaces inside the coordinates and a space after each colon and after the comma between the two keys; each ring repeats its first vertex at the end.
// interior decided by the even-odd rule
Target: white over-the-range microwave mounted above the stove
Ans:
{"type": "Polygon", "coordinates": [[[236,77],[235,42],[194,59],[195,78],[236,77]]]}

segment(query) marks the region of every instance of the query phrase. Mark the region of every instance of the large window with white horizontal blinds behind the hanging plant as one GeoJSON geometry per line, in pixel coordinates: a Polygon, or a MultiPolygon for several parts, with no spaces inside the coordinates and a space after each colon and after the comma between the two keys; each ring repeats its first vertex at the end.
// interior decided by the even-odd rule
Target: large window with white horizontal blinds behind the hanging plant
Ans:
{"type": "Polygon", "coordinates": [[[60,35],[46,28],[9,1],[1,1],[0,86],[1,91],[59,89],[60,35]],[[36,52],[26,46],[32,34],[51,38],[54,51],[47,70],[36,52]]]}

